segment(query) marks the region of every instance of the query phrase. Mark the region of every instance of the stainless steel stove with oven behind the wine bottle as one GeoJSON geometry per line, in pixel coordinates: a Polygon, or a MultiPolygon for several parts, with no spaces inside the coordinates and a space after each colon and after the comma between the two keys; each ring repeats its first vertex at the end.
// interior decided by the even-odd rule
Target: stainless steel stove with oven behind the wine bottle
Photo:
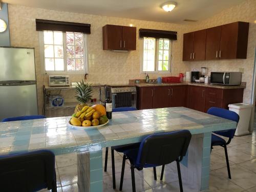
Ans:
{"type": "Polygon", "coordinates": [[[136,108],[137,92],[135,86],[110,85],[105,87],[105,97],[111,95],[112,108],[136,108]]]}

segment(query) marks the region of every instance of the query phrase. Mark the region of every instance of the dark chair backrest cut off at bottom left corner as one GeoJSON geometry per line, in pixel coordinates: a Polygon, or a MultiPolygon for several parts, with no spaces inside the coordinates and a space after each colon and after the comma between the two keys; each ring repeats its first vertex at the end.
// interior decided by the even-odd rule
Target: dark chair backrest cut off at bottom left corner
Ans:
{"type": "Polygon", "coordinates": [[[37,191],[54,187],[55,156],[48,150],[0,156],[1,191],[37,191]]]}

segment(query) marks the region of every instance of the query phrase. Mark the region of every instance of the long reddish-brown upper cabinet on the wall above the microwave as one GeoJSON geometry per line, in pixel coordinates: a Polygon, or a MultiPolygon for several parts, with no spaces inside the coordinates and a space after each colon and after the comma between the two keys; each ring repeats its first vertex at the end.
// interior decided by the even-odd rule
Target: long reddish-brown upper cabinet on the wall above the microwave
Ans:
{"type": "Polygon", "coordinates": [[[235,22],[185,33],[183,60],[246,59],[248,31],[249,23],[235,22]]]}

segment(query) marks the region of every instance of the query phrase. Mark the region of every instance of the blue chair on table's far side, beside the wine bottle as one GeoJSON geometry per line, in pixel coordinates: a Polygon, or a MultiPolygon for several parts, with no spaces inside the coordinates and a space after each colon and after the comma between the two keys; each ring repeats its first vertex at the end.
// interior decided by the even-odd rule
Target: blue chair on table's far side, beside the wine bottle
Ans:
{"type": "MultiPolygon", "coordinates": [[[[136,108],[115,108],[112,110],[112,112],[125,112],[125,111],[135,111],[136,108]]],[[[129,148],[138,147],[140,143],[134,143],[134,144],[127,144],[127,145],[118,145],[118,146],[112,146],[111,147],[111,162],[112,162],[112,180],[113,180],[113,188],[116,188],[116,174],[115,174],[115,156],[114,151],[117,151],[119,153],[123,153],[124,150],[127,150],[129,148]]],[[[108,154],[109,154],[109,147],[106,147],[105,152],[105,163],[104,163],[104,172],[106,172],[107,166],[108,166],[108,154]]]]}

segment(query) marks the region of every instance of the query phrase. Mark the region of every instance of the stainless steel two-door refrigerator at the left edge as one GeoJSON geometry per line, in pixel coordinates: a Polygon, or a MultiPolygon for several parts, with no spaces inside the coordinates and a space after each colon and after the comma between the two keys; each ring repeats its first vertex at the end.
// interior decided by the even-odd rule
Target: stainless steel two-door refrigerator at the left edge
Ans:
{"type": "Polygon", "coordinates": [[[37,114],[34,48],[0,47],[0,121],[37,114]]]}

